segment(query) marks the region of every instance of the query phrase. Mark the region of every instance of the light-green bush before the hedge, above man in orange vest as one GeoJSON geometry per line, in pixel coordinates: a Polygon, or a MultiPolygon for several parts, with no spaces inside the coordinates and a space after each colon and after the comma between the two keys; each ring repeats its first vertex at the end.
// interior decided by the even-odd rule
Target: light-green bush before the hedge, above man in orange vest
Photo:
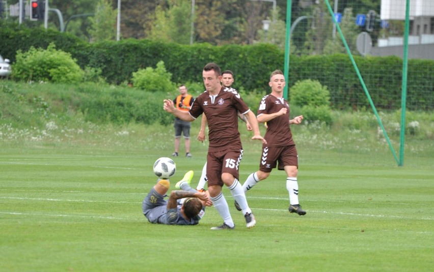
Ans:
{"type": "Polygon", "coordinates": [[[159,61],[155,69],[147,67],[146,69],[139,69],[139,71],[132,73],[134,87],[150,92],[172,92],[176,86],[171,81],[171,78],[172,74],[166,71],[163,61],[159,61]]]}

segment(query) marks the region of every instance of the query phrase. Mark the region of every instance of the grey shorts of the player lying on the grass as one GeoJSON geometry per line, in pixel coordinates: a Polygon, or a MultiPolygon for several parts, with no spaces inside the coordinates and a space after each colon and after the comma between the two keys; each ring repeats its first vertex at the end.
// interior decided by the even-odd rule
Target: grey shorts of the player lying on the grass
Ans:
{"type": "Polygon", "coordinates": [[[143,199],[142,210],[145,217],[151,223],[162,223],[164,221],[162,216],[167,214],[167,201],[164,196],[158,194],[154,188],[151,189],[149,194],[143,199]]]}

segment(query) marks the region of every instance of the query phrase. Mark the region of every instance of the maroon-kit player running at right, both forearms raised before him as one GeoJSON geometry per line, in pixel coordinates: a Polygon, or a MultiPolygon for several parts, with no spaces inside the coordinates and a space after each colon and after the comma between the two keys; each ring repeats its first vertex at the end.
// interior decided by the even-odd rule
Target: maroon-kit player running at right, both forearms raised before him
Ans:
{"type": "MultiPolygon", "coordinates": [[[[302,123],[303,115],[289,119],[288,101],[283,98],[285,83],[282,71],[276,70],[271,74],[268,85],[272,92],[262,98],[257,115],[259,123],[267,123],[267,131],[264,136],[267,143],[262,145],[259,170],[249,175],[242,185],[242,189],[244,192],[252,189],[260,180],[267,178],[279,163],[278,169],[285,170],[287,176],[286,189],[289,192],[289,211],[303,216],[306,211],[299,203],[299,184],[297,183],[299,156],[289,128],[289,125],[302,123]]],[[[240,210],[236,200],[235,207],[240,210]]]]}

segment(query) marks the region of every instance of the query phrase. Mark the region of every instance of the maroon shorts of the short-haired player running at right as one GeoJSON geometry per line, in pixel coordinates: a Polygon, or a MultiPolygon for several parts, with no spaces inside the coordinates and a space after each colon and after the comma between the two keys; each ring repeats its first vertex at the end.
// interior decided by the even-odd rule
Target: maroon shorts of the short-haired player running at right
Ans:
{"type": "Polygon", "coordinates": [[[263,146],[261,162],[259,163],[259,170],[269,173],[276,168],[284,170],[284,166],[291,165],[299,168],[299,156],[295,145],[288,146],[263,146]]]}

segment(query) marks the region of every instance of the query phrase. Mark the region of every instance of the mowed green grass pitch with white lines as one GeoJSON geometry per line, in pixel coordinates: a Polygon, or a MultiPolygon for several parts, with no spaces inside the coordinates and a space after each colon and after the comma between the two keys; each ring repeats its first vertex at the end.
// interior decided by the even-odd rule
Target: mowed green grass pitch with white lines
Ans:
{"type": "MultiPolygon", "coordinates": [[[[2,144],[1,271],[430,271],[434,266],[432,157],[410,157],[411,167],[394,166],[391,159],[385,167],[336,162],[339,156],[325,151],[315,159],[301,145],[299,197],[306,216],[289,214],[285,175],[274,170],[247,193],[254,228],[245,227],[225,188],[236,228],[211,231],[222,223],[213,207],[197,226],[154,225],[142,215],[141,202],[156,182],[152,164],[170,155],[171,140],[165,152],[156,144],[144,150],[127,141],[89,142],[2,144]]],[[[246,145],[242,182],[257,170],[259,159],[257,143],[246,145]]],[[[171,187],[190,169],[195,186],[205,154],[195,143],[192,159],[176,158],[171,187]]]]}

